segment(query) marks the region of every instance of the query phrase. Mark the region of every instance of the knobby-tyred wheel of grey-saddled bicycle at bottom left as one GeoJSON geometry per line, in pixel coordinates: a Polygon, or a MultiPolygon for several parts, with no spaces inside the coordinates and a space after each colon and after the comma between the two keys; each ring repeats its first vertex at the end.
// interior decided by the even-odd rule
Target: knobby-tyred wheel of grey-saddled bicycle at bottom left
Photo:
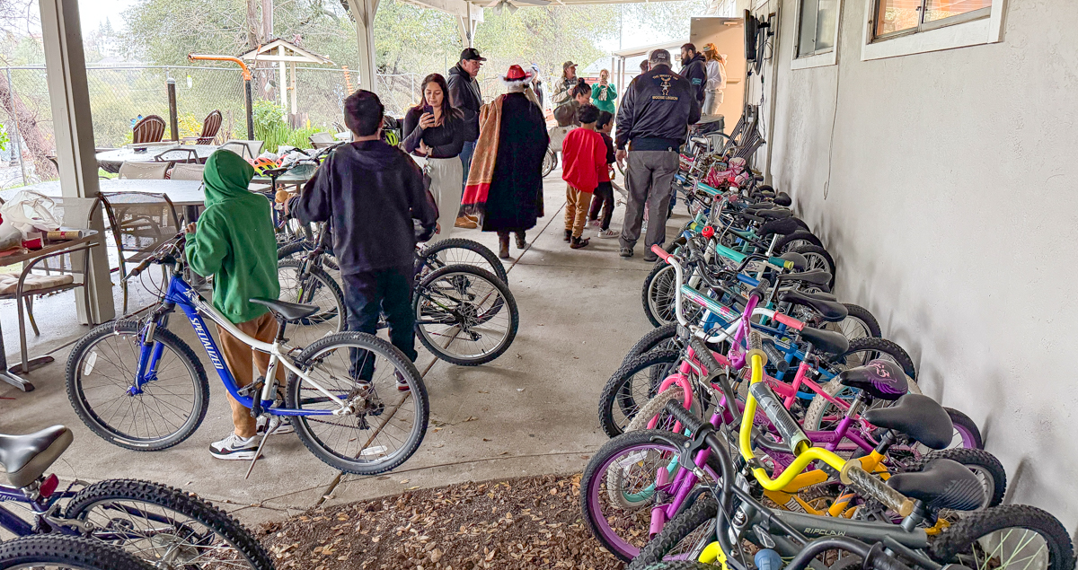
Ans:
{"type": "Polygon", "coordinates": [[[273,569],[254,536],[227,513],[156,483],[95,483],[71,499],[66,516],[154,568],[273,569]]]}

